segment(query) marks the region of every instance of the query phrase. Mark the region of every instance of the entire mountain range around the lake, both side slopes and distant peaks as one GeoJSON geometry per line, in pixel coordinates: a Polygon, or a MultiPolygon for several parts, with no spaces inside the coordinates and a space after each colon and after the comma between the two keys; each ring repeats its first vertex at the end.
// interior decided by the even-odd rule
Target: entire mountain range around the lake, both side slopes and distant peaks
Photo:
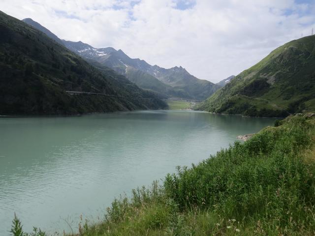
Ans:
{"type": "Polygon", "coordinates": [[[213,84],[181,66],[165,69],[122,50],[66,41],[30,18],[0,12],[1,114],[160,109],[171,97],[206,98],[197,109],[208,112],[284,117],[315,110],[314,68],[312,35],[213,84]]]}

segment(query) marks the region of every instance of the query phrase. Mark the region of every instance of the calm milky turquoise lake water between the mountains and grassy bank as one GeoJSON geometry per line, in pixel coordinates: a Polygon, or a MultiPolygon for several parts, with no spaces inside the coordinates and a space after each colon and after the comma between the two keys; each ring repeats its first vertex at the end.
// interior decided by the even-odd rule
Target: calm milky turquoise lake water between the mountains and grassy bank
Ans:
{"type": "Polygon", "coordinates": [[[0,118],[0,236],[14,212],[26,231],[97,221],[114,197],[273,123],[195,111],[0,118]]]}

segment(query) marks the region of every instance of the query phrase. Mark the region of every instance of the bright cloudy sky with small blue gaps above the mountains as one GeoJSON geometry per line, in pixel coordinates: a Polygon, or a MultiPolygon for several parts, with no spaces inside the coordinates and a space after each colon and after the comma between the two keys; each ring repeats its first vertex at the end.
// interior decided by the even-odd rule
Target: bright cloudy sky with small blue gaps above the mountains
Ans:
{"type": "Polygon", "coordinates": [[[315,0],[0,0],[0,10],[214,83],[315,30],[315,0]]]}

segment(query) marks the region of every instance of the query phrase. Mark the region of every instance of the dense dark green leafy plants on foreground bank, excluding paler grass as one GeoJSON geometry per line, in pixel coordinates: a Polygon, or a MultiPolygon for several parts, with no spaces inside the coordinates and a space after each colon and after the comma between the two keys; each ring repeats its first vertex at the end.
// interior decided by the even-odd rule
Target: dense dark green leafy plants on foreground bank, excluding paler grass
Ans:
{"type": "Polygon", "coordinates": [[[309,131],[304,119],[265,129],[245,144],[168,175],[165,194],[181,210],[211,209],[245,227],[259,221],[276,235],[315,232],[315,169],[300,155],[311,145],[309,131]]]}

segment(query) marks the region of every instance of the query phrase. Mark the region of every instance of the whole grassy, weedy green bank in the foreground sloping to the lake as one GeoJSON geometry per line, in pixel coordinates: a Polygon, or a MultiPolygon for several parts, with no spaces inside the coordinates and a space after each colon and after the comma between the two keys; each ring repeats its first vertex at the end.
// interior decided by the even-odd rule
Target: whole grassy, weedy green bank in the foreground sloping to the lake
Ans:
{"type": "Polygon", "coordinates": [[[102,222],[82,222],[78,235],[314,235],[315,116],[276,125],[116,199],[102,222]]]}

